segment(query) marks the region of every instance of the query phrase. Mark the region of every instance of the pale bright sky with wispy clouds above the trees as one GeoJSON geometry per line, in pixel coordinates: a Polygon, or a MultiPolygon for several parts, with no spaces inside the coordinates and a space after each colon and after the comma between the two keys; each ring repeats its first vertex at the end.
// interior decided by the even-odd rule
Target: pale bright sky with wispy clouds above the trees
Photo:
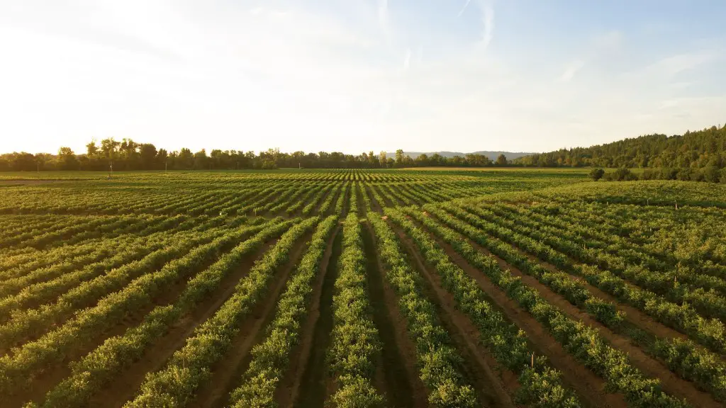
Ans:
{"type": "Polygon", "coordinates": [[[726,122],[722,0],[0,0],[0,152],[542,152],[726,122]]]}

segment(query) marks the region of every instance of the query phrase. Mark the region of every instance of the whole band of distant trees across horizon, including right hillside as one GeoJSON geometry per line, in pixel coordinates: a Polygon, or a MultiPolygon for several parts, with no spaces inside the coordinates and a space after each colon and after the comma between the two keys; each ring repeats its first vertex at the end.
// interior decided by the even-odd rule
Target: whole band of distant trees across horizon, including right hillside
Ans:
{"type": "MultiPolygon", "coordinates": [[[[86,152],[77,154],[61,147],[57,155],[13,152],[0,155],[0,171],[36,170],[208,170],[244,168],[401,168],[401,167],[595,167],[645,168],[647,178],[722,181],[726,179],[726,126],[686,132],[682,136],[651,134],[592,147],[576,147],[555,152],[536,153],[507,160],[496,160],[479,153],[446,157],[433,153],[416,158],[403,150],[395,154],[362,152],[346,155],[341,152],[265,152],[242,150],[189,149],[168,152],[150,143],[131,139],[121,142],[103,139],[86,144],[86,152]]],[[[635,174],[635,173],[634,173],[635,174]]]]}

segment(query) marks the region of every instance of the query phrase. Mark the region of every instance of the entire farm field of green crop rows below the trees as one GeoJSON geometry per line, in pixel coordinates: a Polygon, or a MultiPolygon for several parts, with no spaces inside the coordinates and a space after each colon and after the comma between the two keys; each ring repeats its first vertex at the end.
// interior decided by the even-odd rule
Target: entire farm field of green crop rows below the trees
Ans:
{"type": "Polygon", "coordinates": [[[724,407],[726,185],[0,175],[1,407],[724,407]]]}

